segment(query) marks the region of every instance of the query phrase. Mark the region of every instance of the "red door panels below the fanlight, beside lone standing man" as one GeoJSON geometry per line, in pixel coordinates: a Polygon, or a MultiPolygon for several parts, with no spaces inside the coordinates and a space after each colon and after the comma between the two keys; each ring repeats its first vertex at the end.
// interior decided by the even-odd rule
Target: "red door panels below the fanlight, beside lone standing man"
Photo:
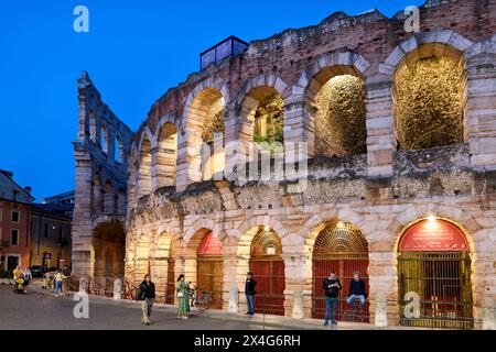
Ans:
{"type": "Polygon", "coordinates": [[[284,315],[284,262],[282,260],[252,260],[250,272],[257,280],[255,312],[284,315]]]}

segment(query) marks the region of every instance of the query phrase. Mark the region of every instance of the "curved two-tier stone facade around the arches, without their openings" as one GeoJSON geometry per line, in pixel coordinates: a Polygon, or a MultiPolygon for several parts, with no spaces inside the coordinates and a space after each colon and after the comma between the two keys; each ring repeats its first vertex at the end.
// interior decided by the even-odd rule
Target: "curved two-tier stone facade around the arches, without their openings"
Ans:
{"type": "MultiPolygon", "coordinates": [[[[373,321],[396,324],[398,241],[409,224],[439,217],[466,234],[474,317],[484,328],[496,328],[496,1],[429,1],[420,14],[421,32],[406,33],[402,11],[391,19],[377,11],[335,13],[316,26],[252,42],[244,54],[191,75],[160,98],[130,145],[127,279],[138,282],[151,272],[164,288],[168,258],[173,256],[174,275],[185,274],[194,283],[196,248],[213,231],[223,242],[224,308],[242,311],[252,230],[270,228],[282,241],[285,315],[310,317],[315,240],[326,224],[349,222],[369,245],[373,321]],[[393,118],[395,73],[431,56],[464,67],[464,141],[402,151],[393,118]],[[330,78],[344,74],[364,82],[367,153],[313,158],[315,97],[330,78]],[[291,183],[276,182],[200,182],[200,127],[214,98],[225,105],[225,142],[249,142],[263,91],[277,92],[284,101],[284,141],[309,143],[308,189],[294,193],[291,183]],[[159,187],[153,169],[161,167],[157,155],[164,153],[161,131],[168,125],[177,132],[176,182],[159,187]]],[[[78,186],[86,190],[79,199],[88,197],[90,156],[77,157],[78,165],[88,163],[79,167],[85,177],[78,178],[84,180],[78,186]]],[[[95,221],[77,226],[89,235],[95,221]]],[[[89,255],[82,243],[76,244],[78,252],[89,255]]],[[[89,257],[79,258],[80,265],[89,263],[89,257]]]]}

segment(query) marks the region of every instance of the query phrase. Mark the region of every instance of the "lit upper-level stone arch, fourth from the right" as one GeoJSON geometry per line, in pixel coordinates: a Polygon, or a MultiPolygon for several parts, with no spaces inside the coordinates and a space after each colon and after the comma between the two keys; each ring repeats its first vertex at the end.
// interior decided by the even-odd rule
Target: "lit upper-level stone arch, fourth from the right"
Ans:
{"type": "MultiPolygon", "coordinates": [[[[203,151],[203,142],[211,142],[207,140],[212,138],[213,132],[218,132],[217,130],[222,130],[224,133],[225,108],[228,105],[227,84],[218,78],[202,81],[187,96],[179,134],[179,150],[186,151],[186,153],[179,153],[179,165],[183,165],[179,166],[181,173],[177,175],[177,188],[180,190],[185,189],[191,183],[212,177],[212,175],[203,175],[202,161],[208,160],[203,151]],[[212,125],[205,124],[211,122],[212,125]]],[[[217,145],[218,143],[215,143],[215,146],[217,145]]],[[[224,153],[224,141],[222,147],[217,147],[218,150],[213,151],[213,154],[224,153]]],[[[209,152],[212,154],[212,150],[209,152]]],[[[224,166],[218,165],[218,168],[223,169],[224,166]]]]}

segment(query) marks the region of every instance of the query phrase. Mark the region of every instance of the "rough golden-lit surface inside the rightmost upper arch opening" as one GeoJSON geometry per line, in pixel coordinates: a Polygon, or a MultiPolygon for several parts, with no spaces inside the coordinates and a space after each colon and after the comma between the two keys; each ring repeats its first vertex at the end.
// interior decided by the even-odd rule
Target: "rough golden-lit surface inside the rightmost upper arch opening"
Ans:
{"type": "Polygon", "coordinates": [[[395,120],[401,148],[463,142],[463,72],[451,59],[429,57],[395,79],[395,120]]]}

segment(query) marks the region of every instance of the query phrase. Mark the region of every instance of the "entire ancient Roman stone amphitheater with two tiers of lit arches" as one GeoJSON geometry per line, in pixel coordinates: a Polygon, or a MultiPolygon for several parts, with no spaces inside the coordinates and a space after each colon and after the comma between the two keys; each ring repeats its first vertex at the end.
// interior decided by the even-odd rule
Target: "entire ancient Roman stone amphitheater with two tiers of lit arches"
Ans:
{"type": "Polygon", "coordinates": [[[233,314],[251,271],[257,312],[295,319],[322,317],[331,271],[343,298],[359,271],[366,309],[341,301],[342,320],[496,329],[496,0],[428,1],[420,32],[408,16],[230,37],[136,133],[83,73],[74,271],[126,285],[151,273],[166,304],[185,274],[233,314]],[[257,168],[280,153],[268,145],[296,143],[285,167],[306,168],[306,187],[222,177],[236,141],[257,168]]]}

